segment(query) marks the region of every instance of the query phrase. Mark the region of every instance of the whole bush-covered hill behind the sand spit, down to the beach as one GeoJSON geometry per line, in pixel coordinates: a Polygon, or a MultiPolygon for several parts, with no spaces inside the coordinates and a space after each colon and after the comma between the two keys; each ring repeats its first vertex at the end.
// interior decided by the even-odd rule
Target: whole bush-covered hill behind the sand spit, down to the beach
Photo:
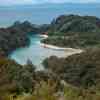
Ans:
{"type": "Polygon", "coordinates": [[[53,20],[49,38],[42,42],[61,47],[100,46],[100,19],[93,16],[62,15],[53,20]]]}

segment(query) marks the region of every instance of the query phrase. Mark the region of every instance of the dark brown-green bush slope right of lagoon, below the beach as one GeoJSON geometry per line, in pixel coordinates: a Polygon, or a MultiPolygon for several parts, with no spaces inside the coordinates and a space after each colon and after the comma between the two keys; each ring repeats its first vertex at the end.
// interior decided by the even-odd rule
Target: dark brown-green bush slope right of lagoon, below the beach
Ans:
{"type": "Polygon", "coordinates": [[[44,61],[46,69],[60,79],[81,87],[96,86],[100,79],[100,49],[89,49],[66,59],[50,57],[44,61]]]}

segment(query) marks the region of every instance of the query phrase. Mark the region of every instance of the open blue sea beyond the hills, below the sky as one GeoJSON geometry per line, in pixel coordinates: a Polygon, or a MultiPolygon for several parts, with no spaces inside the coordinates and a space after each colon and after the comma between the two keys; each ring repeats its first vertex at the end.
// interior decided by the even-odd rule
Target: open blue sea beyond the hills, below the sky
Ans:
{"type": "Polygon", "coordinates": [[[28,20],[34,24],[50,23],[62,14],[80,14],[100,17],[100,4],[43,4],[0,7],[0,26],[11,25],[15,21],[28,20]]]}

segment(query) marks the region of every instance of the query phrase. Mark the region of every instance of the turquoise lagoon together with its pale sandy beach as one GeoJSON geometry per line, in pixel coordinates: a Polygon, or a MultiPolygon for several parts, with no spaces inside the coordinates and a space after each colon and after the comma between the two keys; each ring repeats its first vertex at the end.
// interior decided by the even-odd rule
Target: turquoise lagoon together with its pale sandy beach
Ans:
{"type": "Polygon", "coordinates": [[[10,58],[14,59],[21,65],[25,65],[27,59],[30,59],[32,63],[37,66],[37,70],[43,68],[42,61],[50,56],[57,56],[58,58],[66,58],[73,54],[81,53],[82,50],[73,49],[73,48],[61,48],[50,44],[44,44],[41,42],[42,38],[40,35],[38,37],[30,38],[33,40],[33,43],[30,44],[28,48],[22,48],[18,51],[15,51],[10,58]],[[37,39],[34,39],[37,38],[37,39]],[[36,42],[34,42],[36,40],[36,42]],[[37,43],[38,42],[38,43],[37,43]],[[46,47],[44,47],[46,45],[46,47]]]}

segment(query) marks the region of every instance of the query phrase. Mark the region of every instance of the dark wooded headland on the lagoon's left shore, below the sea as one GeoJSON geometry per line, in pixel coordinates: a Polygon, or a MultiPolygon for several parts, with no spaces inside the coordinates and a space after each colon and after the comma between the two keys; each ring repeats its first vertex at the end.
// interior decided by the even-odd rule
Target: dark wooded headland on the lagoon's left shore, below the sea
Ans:
{"type": "Polygon", "coordinates": [[[15,22],[8,28],[0,28],[0,55],[7,56],[16,48],[28,46],[30,43],[28,35],[36,34],[38,30],[28,21],[15,22]]]}

